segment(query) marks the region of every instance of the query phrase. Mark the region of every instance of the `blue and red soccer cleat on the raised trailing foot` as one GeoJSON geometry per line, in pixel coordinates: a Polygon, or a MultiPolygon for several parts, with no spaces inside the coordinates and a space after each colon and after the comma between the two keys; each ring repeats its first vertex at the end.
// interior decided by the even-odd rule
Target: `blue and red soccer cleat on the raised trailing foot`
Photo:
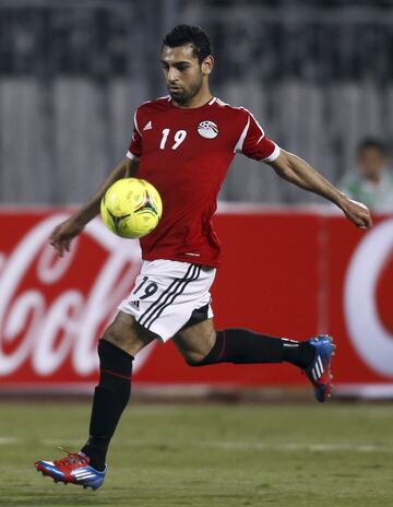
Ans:
{"type": "Polygon", "coordinates": [[[303,373],[314,388],[315,400],[323,403],[331,397],[333,379],[331,364],[335,345],[333,338],[327,334],[311,338],[308,343],[315,347],[315,356],[310,366],[303,369],[303,373]]]}

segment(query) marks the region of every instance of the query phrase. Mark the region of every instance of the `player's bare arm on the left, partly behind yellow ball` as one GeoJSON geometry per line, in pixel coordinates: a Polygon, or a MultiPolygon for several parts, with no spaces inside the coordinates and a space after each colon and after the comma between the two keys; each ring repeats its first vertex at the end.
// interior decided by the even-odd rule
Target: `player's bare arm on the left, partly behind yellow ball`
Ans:
{"type": "Polygon", "coordinates": [[[59,224],[52,231],[49,243],[62,257],[66,251],[70,251],[72,239],[82,233],[85,225],[99,213],[99,204],[107,189],[120,178],[129,178],[135,175],[139,166],[139,158],[126,157],[108,175],[97,192],[82,205],[70,219],[59,224]]]}

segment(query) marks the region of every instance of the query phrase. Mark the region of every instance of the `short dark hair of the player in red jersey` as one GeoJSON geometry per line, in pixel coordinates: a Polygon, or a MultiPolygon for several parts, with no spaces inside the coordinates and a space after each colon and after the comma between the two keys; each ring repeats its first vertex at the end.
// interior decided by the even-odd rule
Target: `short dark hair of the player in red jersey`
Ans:
{"type": "Polygon", "coordinates": [[[202,61],[212,55],[212,42],[204,30],[200,26],[178,25],[175,26],[163,40],[163,46],[179,47],[186,44],[193,46],[193,56],[202,61]]]}

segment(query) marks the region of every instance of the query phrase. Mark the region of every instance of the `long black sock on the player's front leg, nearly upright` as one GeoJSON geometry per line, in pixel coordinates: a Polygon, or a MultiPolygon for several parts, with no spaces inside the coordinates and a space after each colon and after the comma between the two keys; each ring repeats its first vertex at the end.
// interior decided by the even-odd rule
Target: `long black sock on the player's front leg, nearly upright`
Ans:
{"type": "Polygon", "coordinates": [[[105,469],[110,438],[130,399],[133,356],[105,339],[98,343],[99,382],[94,391],[90,438],[81,451],[96,470],[105,469]]]}

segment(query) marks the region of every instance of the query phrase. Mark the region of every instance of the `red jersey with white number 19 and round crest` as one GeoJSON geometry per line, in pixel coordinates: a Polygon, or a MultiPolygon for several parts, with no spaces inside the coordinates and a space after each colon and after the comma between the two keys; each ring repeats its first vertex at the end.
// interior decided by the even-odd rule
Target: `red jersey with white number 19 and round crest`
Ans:
{"type": "Polygon", "coordinates": [[[167,96],[136,109],[127,156],[140,158],[136,176],[163,199],[158,226],[140,240],[144,260],[218,266],[212,216],[236,153],[265,162],[279,154],[243,107],[212,98],[201,107],[180,108],[167,96]]]}

